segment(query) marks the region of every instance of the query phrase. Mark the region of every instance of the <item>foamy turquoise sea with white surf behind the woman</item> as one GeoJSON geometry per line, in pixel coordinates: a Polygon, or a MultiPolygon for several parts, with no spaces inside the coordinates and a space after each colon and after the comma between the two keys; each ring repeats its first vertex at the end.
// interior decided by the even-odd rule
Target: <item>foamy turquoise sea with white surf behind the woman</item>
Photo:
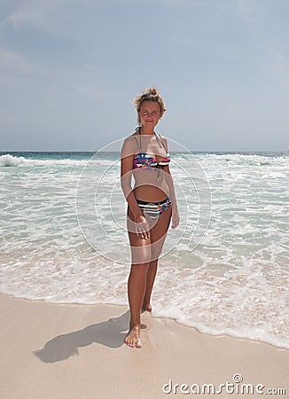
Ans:
{"type": "MultiPolygon", "coordinates": [[[[171,159],[180,224],[152,317],[289,349],[289,153],[171,159]]],[[[0,187],[1,293],[128,306],[119,151],[0,153],[0,187]]]]}

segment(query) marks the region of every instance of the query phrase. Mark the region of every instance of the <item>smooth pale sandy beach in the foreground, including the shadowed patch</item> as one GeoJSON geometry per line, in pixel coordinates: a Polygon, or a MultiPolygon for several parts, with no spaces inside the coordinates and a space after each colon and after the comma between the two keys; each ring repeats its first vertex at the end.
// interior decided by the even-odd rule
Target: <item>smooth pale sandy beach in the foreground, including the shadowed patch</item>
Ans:
{"type": "Polygon", "coordinates": [[[204,384],[213,384],[220,397],[252,397],[252,389],[254,396],[289,395],[289,351],[261,342],[213,337],[145,313],[143,348],[128,348],[122,343],[126,307],[4,294],[0,317],[3,398],[213,396],[202,391],[204,384]]]}

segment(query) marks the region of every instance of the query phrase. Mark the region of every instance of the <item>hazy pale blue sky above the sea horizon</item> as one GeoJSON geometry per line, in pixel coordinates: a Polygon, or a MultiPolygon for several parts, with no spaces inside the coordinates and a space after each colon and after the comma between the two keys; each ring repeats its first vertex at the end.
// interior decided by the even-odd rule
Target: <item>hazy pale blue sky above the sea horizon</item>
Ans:
{"type": "Polygon", "coordinates": [[[289,151],[288,0],[0,0],[0,151],[98,151],[137,126],[191,151],[289,151]]]}

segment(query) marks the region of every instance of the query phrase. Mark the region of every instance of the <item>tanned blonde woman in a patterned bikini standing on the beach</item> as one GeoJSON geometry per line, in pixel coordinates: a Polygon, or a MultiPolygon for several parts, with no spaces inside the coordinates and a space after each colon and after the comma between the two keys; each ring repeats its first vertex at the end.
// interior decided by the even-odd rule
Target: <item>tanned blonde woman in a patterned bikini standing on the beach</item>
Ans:
{"type": "Polygon", "coordinates": [[[179,223],[174,184],[169,172],[168,143],[154,128],[166,108],[152,87],[135,99],[139,127],[121,149],[121,188],[128,202],[131,269],[128,295],[130,322],[125,343],[141,348],[140,314],[152,311],[152,286],[168,226],[179,223]],[[134,176],[134,188],[131,187],[134,176]]]}

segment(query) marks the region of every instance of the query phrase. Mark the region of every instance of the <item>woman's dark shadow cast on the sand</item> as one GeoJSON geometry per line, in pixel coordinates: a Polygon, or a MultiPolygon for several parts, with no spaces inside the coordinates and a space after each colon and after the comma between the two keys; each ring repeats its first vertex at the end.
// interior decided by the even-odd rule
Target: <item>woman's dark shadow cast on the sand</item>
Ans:
{"type": "Polygon", "coordinates": [[[78,348],[96,342],[110,348],[120,348],[129,325],[129,310],[120,317],[89,325],[82,330],[59,335],[45,343],[43,349],[35,350],[35,356],[43,363],[55,363],[78,355],[78,348]]]}

